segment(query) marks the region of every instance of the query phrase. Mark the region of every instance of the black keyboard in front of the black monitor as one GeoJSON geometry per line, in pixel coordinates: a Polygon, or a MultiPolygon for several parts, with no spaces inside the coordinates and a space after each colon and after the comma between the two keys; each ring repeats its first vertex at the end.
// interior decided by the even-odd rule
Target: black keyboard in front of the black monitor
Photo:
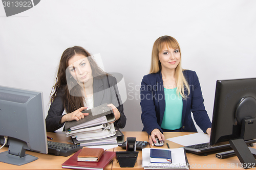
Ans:
{"type": "MultiPolygon", "coordinates": [[[[245,141],[246,144],[255,143],[255,142],[256,142],[256,139],[245,141]]],[[[232,149],[232,148],[229,143],[211,146],[210,143],[208,142],[208,143],[189,145],[184,147],[184,149],[186,150],[186,152],[190,152],[193,154],[201,154],[201,153],[206,153],[210,151],[217,151],[221,149],[232,149]]]]}

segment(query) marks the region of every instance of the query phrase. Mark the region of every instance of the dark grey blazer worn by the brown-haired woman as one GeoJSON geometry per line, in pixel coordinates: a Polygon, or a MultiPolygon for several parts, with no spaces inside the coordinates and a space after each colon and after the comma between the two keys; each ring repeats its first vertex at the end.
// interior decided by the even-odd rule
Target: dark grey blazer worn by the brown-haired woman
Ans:
{"type": "MultiPolygon", "coordinates": [[[[112,76],[104,76],[101,79],[93,79],[93,99],[94,107],[102,105],[104,103],[112,103],[120,112],[120,118],[114,122],[114,125],[118,128],[124,128],[126,124],[126,117],[123,113],[123,104],[120,98],[120,94],[117,88],[116,78],[112,76]],[[119,105],[120,103],[120,105],[119,105]]],[[[64,91],[58,90],[56,98],[51,104],[48,115],[46,117],[46,130],[47,132],[54,132],[61,128],[64,124],[59,124],[62,113],[65,110],[62,98],[64,91]]]]}

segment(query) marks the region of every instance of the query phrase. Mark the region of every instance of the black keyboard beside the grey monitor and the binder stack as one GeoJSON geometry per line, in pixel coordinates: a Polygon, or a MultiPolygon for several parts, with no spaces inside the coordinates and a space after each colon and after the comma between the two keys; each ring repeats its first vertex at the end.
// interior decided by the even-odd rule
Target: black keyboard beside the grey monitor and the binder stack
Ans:
{"type": "Polygon", "coordinates": [[[47,140],[48,144],[48,154],[60,155],[60,156],[69,156],[74,152],[82,149],[79,145],[53,142],[47,140]]]}

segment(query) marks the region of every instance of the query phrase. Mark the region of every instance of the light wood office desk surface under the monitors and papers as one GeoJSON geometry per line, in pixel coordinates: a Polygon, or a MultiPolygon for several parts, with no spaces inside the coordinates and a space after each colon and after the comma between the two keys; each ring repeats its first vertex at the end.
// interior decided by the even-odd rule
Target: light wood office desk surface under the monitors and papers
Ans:
{"type": "MultiPolygon", "coordinates": [[[[148,141],[148,135],[146,134],[146,132],[122,132],[122,133],[124,134],[125,140],[126,140],[126,137],[136,137],[137,140],[148,141]]],[[[167,139],[170,137],[182,136],[187,134],[191,134],[191,133],[165,132],[164,136],[167,139]]],[[[47,135],[52,137],[54,139],[53,141],[56,141],[56,142],[69,143],[68,140],[70,140],[70,138],[66,137],[65,133],[63,132],[55,132],[55,133],[47,132],[47,135]]],[[[161,148],[163,149],[167,148],[166,142],[169,144],[170,148],[182,147],[182,145],[165,140],[165,144],[161,148]]],[[[159,147],[152,147],[149,145],[147,147],[159,148],[159,147]]],[[[254,146],[253,148],[256,148],[256,147],[254,146]]],[[[8,148],[4,147],[3,149],[0,150],[0,152],[4,152],[7,150],[8,148]]],[[[117,147],[114,149],[110,149],[109,151],[125,151],[125,150],[121,149],[120,147],[117,147]]],[[[31,151],[26,151],[26,154],[36,156],[39,159],[22,166],[10,165],[10,164],[0,162],[0,169],[62,169],[63,170],[63,168],[61,168],[61,164],[65,162],[69,157],[71,157],[71,156],[63,157],[63,156],[55,156],[55,155],[46,155],[46,154],[40,154],[36,152],[31,152],[31,151]]],[[[187,153],[187,159],[190,165],[190,169],[244,169],[239,167],[240,161],[236,156],[226,158],[226,159],[217,159],[215,157],[215,154],[202,156],[202,155],[187,153]]],[[[134,168],[121,168],[117,163],[117,161],[114,160],[105,169],[143,169],[141,167],[141,163],[142,163],[142,155],[140,151],[134,168]]]]}

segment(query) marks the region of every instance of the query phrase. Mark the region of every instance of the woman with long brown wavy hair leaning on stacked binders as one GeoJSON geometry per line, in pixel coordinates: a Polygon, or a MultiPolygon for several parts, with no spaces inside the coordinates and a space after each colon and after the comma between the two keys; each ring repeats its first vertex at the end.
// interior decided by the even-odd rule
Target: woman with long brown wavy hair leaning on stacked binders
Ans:
{"type": "Polygon", "coordinates": [[[67,48],[61,56],[52,88],[51,106],[46,117],[47,131],[54,132],[65,122],[80,120],[88,115],[81,111],[104,103],[110,103],[113,109],[114,125],[124,128],[126,117],[116,84],[116,79],[100,69],[84,48],[67,48]],[[64,110],[67,114],[62,114],[64,110]]]}

